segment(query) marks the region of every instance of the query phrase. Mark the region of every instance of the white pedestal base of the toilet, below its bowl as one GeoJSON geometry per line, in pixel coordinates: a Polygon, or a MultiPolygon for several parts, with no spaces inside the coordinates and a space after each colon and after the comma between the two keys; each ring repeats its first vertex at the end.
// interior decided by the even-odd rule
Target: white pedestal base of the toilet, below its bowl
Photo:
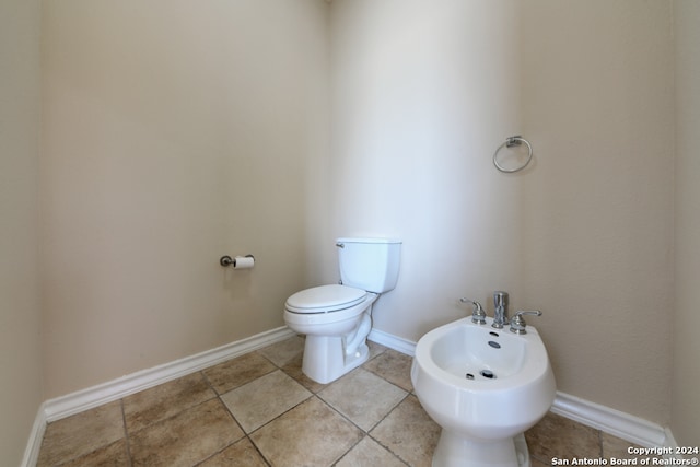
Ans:
{"type": "Polygon", "coordinates": [[[370,358],[366,340],[350,355],[346,355],[343,337],[306,336],[302,372],[316,383],[328,384],[370,358]]]}

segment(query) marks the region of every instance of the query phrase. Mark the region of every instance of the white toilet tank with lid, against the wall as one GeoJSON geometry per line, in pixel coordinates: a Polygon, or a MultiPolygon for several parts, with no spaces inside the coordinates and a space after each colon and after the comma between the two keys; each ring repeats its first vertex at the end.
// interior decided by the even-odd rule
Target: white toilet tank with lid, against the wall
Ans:
{"type": "Polygon", "coordinates": [[[343,285],[384,293],[398,280],[401,242],[390,238],[338,238],[338,264],[343,285]]]}

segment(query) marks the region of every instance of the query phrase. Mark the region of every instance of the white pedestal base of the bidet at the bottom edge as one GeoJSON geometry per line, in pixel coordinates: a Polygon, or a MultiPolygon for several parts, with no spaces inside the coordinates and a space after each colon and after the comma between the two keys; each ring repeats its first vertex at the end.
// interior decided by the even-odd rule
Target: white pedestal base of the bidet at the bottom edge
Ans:
{"type": "Polygon", "coordinates": [[[495,441],[476,441],[442,430],[433,467],[529,467],[525,434],[495,441]]]}

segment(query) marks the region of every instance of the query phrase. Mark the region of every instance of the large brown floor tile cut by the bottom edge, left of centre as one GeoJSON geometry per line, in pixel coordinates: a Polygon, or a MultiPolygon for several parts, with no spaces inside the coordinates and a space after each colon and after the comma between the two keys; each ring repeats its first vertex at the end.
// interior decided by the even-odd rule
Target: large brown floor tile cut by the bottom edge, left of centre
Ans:
{"type": "Polygon", "coordinates": [[[218,398],[130,434],[133,466],[192,466],[244,436],[218,398]]]}

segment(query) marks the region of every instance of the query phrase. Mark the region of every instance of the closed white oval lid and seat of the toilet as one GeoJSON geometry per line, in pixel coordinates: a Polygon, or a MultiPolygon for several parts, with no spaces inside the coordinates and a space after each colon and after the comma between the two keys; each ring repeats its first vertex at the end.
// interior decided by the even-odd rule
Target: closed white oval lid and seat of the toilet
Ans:
{"type": "Polygon", "coordinates": [[[327,313],[349,308],[362,302],[368,292],[346,285],[320,285],[302,290],[287,299],[287,308],[295,313],[327,313]]]}

